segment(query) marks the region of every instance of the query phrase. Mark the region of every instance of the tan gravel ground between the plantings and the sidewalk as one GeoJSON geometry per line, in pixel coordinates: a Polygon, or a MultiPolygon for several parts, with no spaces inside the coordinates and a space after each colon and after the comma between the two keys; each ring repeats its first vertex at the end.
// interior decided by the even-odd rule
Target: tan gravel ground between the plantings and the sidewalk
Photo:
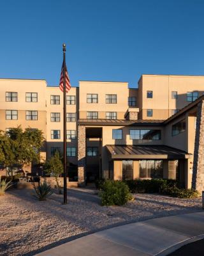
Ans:
{"type": "Polygon", "coordinates": [[[34,255],[96,230],[161,216],[201,210],[201,198],[179,199],[136,194],[124,206],[102,207],[91,189],[68,189],[45,202],[30,189],[13,189],[0,196],[0,255],[34,255]]]}

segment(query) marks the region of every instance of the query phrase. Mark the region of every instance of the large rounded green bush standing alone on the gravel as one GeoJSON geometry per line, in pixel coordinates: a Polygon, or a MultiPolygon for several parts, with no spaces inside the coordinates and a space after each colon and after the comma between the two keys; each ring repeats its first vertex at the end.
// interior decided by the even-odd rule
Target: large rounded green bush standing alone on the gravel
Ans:
{"type": "Polygon", "coordinates": [[[124,205],[133,198],[127,184],[119,180],[105,180],[101,189],[102,205],[124,205]]]}

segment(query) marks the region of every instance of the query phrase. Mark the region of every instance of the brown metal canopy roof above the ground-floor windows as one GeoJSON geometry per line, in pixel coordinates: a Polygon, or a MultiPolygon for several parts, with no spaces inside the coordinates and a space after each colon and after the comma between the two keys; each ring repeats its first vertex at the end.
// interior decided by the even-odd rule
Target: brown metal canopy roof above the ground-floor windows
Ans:
{"type": "Polygon", "coordinates": [[[187,159],[192,154],[164,145],[106,145],[112,159],[187,159]]]}

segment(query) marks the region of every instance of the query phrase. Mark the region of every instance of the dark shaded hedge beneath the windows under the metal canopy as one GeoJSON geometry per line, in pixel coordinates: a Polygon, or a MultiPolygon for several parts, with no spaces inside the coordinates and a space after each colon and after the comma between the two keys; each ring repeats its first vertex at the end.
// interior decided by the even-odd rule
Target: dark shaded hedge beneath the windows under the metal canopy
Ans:
{"type": "Polygon", "coordinates": [[[159,193],[161,186],[177,184],[176,180],[168,179],[136,179],[126,180],[131,193],[159,193]]]}

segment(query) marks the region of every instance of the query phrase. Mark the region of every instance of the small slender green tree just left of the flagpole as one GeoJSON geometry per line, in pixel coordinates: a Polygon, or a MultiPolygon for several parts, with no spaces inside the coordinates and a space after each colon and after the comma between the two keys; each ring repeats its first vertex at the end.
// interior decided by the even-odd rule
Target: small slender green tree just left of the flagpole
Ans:
{"type": "Polygon", "coordinates": [[[60,190],[59,186],[59,175],[63,172],[63,164],[62,164],[62,158],[58,151],[55,152],[54,156],[50,157],[50,159],[47,159],[45,163],[45,172],[49,175],[52,175],[55,177],[56,183],[57,183],[57,189],[60,190]]]}

